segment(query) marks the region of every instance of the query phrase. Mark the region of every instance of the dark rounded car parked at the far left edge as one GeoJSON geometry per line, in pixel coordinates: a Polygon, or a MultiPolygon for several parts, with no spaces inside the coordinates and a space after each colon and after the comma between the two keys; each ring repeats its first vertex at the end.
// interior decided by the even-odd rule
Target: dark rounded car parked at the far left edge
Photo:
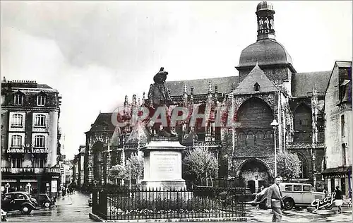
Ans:
{"type": "Polygon", "coordinates": [[[1,200],[1,208],[6,211],[20,211],[23,215],[29,215],[32,210],[37,209],[34,201],[25,192],[10,192],[1,200]]]}

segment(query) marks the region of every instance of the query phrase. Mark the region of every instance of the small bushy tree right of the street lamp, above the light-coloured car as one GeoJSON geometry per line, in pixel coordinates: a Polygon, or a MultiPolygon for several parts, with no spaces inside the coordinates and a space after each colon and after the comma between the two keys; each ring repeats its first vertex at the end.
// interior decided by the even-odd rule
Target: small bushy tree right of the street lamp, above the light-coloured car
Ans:
{"type": "Polygon", "coordinates": [[[299,178],[301,161],[298,158],[297,154],[282,152],[277,155],[277,169],[278,174],[283,177],[283,179],[292,179],[299,178]]]}

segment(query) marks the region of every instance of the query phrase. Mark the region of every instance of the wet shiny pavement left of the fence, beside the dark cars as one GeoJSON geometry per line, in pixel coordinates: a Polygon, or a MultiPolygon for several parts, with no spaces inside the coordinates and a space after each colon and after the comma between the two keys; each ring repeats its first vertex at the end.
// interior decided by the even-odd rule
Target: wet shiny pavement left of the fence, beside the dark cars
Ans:
{"type": "Polygon", "coordinates": [[[32,210],[30,215],[11,212],[8,222],[93,222],[89,218],[92,207],[88,206],[89,195],[76,191],[75,194],[56,199],[56,207],[32,210]]]}

